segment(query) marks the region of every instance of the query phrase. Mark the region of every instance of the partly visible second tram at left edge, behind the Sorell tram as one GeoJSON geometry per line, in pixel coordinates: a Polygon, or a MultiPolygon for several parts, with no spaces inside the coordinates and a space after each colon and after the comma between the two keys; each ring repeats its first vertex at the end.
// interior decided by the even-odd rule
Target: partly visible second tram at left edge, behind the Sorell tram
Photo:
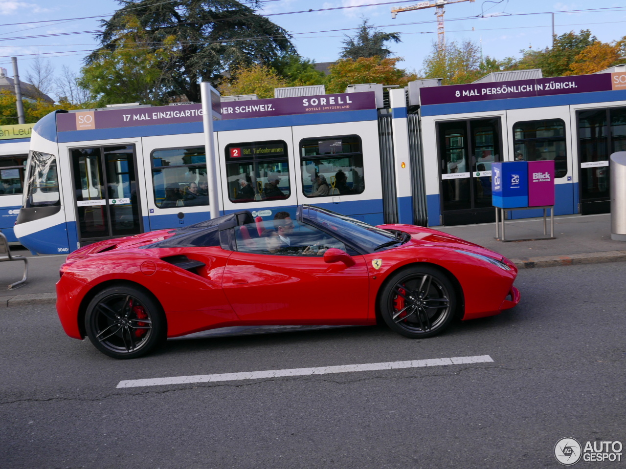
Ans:
{"type": "Polygon", "coordinates": [[[18,244],[13,226],[22,207],[24,168],[33,124],[0,126],[0,231],[18,244]]]}

